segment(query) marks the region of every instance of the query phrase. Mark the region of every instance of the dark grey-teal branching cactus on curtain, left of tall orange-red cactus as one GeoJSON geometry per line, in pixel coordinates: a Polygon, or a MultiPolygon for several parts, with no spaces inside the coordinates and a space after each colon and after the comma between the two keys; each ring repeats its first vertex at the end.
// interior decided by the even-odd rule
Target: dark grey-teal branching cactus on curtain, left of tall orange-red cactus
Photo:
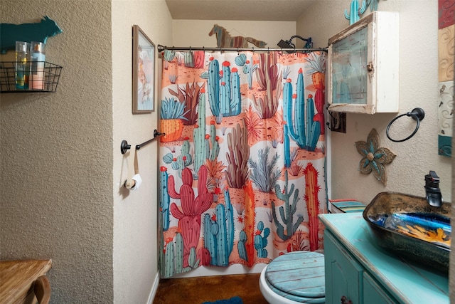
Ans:
{"type": "Polygon", "coordinates": [[[284,189],[282,190],[279,187],[279,184],[275,185],[275,194],[277,197],[284,201],[284,206],[279,207],[279,215],[283,224],[286,225],[286,231],[284,230],[284,226],[279,222],[277,218],[277,211],[275,210],[275,204],[272,201],[272,216],[275,225],[277,226],[277,234],[280,239],[286,241],[290,239],[291,236],[296,232],[297,228],[302,221],[304,221],[303,216],[297,216],[297,221],[294,223],[294,214],[297,210],[297,201],[299,201],[299,189],[295,189],[294,192],[294,184],[291,184],[291,189],[288,191],[288,174],[287,170],[284,172],[284,189]],[[294,197],[292,198],[292,203],[289,201],[291,198],[292,193],[294,192],[294,197]]]}

